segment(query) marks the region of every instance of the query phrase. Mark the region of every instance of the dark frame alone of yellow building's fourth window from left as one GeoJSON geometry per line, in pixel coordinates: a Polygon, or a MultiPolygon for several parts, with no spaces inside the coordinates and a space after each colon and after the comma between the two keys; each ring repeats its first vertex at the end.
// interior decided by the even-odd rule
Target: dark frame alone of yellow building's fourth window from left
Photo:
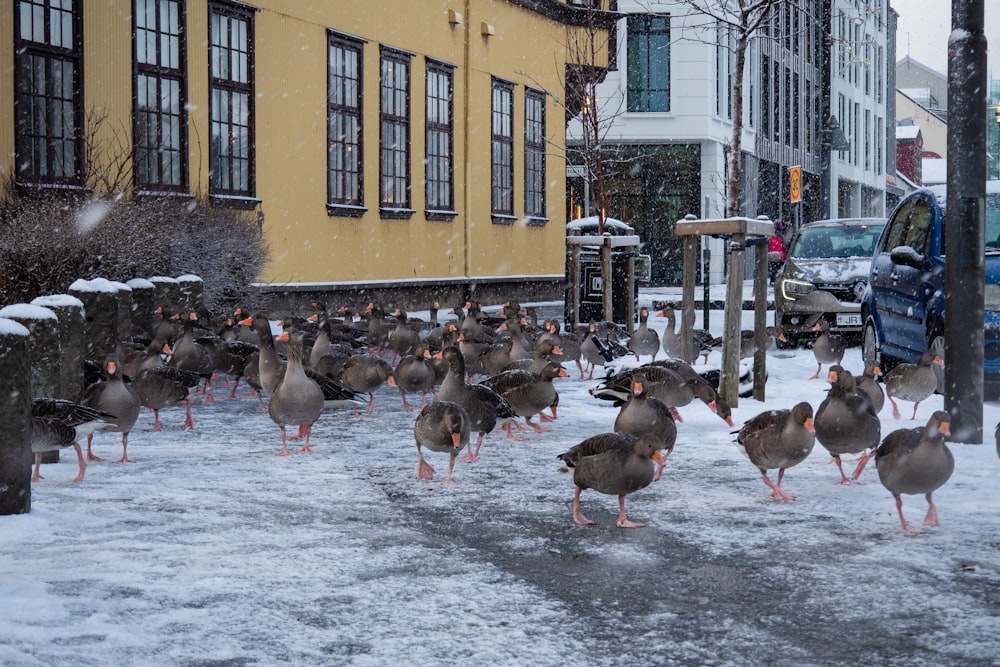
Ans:
{"type": "Polygon", "coordinates": [[[364,173],[364,45],[365,41],[349,35],[327,31],[327,178],[326,178],[326,211],[328,215],[359,218],[368,210],[364,205],[365,173],[364,173]],[[333,52],[335,49],[343,52],[354,52],[357,58],[357,71],[353,76],[348,72],[335,72],[333,52]],[[337,82],[342,81],[341,90],[337,94],[337,82]],[[349,87],[356,89],[357,103],[350,104],[349,87]],[[337,100],[340,100],[338,102],[337,100]],[[354,121],[356,136],[354,141],[338,142],[334,136],[336,121],[341,120],[340,127],[346,127],[349,120],[354,121]],[[344,147],[345,158],[337,159],[337,147],[344,147]],[[351,146],[352,148],[347,148],[351,146]],[[347,155],[355,156],[355,165],[348,165],[347,155]],[[353,179],[353,182],[352,182],[353,179]],[[339,185],[335,187],[335,185],[339,185]],[[335,196],[335,192],[345,193],[335,196]]]}

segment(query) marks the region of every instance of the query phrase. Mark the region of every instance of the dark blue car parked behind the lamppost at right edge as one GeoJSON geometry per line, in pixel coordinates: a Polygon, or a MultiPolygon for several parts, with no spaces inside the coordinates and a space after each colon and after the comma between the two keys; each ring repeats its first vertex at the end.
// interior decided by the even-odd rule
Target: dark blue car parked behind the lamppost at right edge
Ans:
{"type": "MultiPolygon", "coordinates": [[[[862,355],[883,373],[915,363],[924,350],[944,354],[945,186],[907,195],[890,214],[861,299],[862,355]]],[[[1000,390],[1000,181],[986,184],[985,383],[1000,390]]],[[[940,367],[938,389],[943,388],[940,367]]]]}

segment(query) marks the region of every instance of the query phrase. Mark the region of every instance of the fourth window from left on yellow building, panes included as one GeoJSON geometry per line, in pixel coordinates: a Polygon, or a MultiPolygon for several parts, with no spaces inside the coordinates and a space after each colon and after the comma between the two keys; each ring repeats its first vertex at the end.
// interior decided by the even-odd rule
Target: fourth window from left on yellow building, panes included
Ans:
{"type": "Polygon", "coordinates": [[[327,55],[327,212],[364,213],[361,132],[363,43],[330,34],[327,55]]]}

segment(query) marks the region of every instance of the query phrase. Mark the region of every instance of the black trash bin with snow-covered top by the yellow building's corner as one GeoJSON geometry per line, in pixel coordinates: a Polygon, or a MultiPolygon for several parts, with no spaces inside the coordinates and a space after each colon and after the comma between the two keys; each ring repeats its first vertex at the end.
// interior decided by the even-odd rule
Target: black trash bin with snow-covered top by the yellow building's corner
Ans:
{"type": "MultiPolygon", "coordinates": [[[[598,221],[596,216],[580,218],[566,223],[567,236],[590,237],[592,245],[574,246],[567,243],[566,247],[566,323],[567,326],[586,324],[591,320],[604,320],[604,282],[601,276],[601,237],[597,234],[598,221]],[[580,279],[579,284],[573,284],[572,255],[574,247],[579,247],[580,279]],[[579,311],[576,322],[573,321],[572,297],[576,290],[579,311]]],[[[614,218],[604,219],[604,232],[610,236],[630,237],[620,239],[622,245],[611,247],[611,315],[612,320],[620,325],[628,326],[629,316],[638,311],[639,281],[634,273],[635,265],[641,263],[644,256],[639,255],[639,237],[630,225],[614,218]],[[631,260],[631,261],[630,261],[631,260]],[[632,286],[632,301],[628,300],[629,285],[632,286]]]]}

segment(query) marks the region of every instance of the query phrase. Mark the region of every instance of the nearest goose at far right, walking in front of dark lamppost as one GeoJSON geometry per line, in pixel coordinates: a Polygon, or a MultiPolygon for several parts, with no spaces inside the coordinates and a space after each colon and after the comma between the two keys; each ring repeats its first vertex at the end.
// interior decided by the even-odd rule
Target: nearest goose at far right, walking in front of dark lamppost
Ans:
{"type": "Polygon", "coordinates": [[[937,508],[933,494],[951,477],[955,459],[944,444],[951,434],[951,417],[938,410],[923,428],[897,429],[887,435],[875,450],[875,467],[878,477],[896,499],[899,523],[908,533],[918,532],[903,517],[904,493],[922,493],[927,499],[927,516],[924,524],[938,525],[937,508]]]}

